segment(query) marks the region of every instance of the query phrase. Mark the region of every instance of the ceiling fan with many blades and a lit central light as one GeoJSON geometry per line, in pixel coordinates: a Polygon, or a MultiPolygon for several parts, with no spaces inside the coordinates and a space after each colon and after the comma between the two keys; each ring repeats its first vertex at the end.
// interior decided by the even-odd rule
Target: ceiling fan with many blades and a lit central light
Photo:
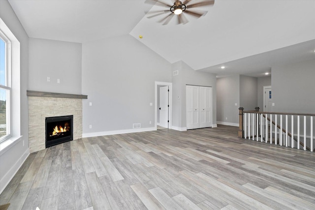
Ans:
{"type": "MultiPolygon", "coordinates": [[[[174,2],[174,0],[172,0],[174,2]]],[[[163,23],[162,25],[168,24],[174,16],[177,16],[177,24],[186,24],[188,23],[188,19],[184,14],[188,14],[194,16],[196,18],[200,18],[205,15],[207,11],[195,10],[191,9],[194,7],[207,6],[214,4],[214,0],[175,0],[174,4],[168,4],[161,0],[146,0],[145,3],[153,4],[156,6],[166,7],[167,10],[154,10],[147,11],[147,18],[157,17],[159,15],[166,15],[158,22],[163,23]],[[195,2],[195,3],[194,3],[195,2]]]]}

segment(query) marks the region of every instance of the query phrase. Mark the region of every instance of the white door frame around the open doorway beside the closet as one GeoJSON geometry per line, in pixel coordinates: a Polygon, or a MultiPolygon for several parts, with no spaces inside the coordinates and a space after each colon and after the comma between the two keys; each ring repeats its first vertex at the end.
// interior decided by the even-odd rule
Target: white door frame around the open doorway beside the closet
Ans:
{"type": "Polygon", "coordinates": [[[168,86],[169,93],[168,93],[168,128],[172,129],[172,83],[168,82],[158,82],[155,81],[155,110],[154,110],[154,128],[155,130],[158,129],[158,86],[168,86]]]}

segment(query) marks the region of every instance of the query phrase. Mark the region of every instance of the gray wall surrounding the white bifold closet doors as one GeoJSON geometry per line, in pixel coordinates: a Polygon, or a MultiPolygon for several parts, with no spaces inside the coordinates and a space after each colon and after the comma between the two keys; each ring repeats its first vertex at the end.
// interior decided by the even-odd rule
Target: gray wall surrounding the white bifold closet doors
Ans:
{"type": "Polygon", "coordinates": [[[217,78],[216,75],[195,71],[183,61],[172,65],[172,71],[178,70],[179,75],[173,76],[173,126],[186,127],[186,85],[212,87],[213,118],[217,124],[217,78]],[[178,98],[180,96],[180,98],[178,98]]]}

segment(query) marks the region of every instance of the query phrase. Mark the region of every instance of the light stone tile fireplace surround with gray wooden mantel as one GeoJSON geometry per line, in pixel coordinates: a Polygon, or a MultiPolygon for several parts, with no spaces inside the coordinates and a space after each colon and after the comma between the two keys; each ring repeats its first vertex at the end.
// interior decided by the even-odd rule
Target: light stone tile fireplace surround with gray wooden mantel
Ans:
{"type": "Polygon", "coordinates": [[[73,140],[82,138],[82,99],[87,95],[27,90],[30,152],[45,149],[45,119],[73,115],[73,140]]]}

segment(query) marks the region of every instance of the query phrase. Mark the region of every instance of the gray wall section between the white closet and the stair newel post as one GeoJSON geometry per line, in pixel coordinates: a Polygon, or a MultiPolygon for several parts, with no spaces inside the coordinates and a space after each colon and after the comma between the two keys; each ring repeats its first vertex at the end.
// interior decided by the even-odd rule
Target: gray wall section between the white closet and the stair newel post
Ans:
{"type": "Polygon", "coordinates": [[[217,120],[224,124],[239,123],[240,75],[217,79],[217,120]],[[237,103],[237,106],[235,106],[237,103]],[[226,119],[227,118],[227,119],[226,119]]]}

